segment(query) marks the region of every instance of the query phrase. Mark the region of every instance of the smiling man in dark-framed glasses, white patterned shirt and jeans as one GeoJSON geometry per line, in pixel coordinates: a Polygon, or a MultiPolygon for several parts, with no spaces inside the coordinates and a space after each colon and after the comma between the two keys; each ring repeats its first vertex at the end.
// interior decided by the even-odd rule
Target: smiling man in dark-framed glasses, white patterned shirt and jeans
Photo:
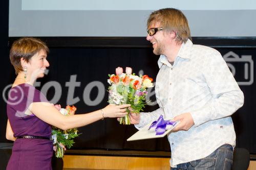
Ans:
{"type": "Polygon", "coordinates": [[[191,42],[188,22],[177,9],[153,12],[147,20],[146,39],[160,55],[156,78],[159,109],[130,113],[139,129],[157,120],[180,120],[168,135],[172,169],[230,169],[236,134],[231,114],[244,102],[221,54],[191,42]]]}

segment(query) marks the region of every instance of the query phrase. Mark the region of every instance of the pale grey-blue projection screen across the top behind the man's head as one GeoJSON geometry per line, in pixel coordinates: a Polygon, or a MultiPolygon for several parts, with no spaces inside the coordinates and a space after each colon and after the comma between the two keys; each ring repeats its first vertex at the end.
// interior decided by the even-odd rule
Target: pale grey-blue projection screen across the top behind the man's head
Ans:
{"type": "Polygon", "coordinates": [[[9,37],[144,37],[148,15],[177,8],[196,37],[255,37],[256,2],[10,0],[9,37]]]}

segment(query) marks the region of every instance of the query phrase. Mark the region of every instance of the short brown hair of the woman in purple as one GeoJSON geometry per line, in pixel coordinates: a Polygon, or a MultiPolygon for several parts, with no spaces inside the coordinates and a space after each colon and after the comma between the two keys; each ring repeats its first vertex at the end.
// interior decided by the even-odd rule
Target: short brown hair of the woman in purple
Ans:
{"type": "Polygon", "coordinates": [[[10,51],[10,60],[16,74],[23,71],[23,67],[20,64],[21,58],[29,62],[31,57],[41,50],[45,50],[47,54],[49,53],[48,46],[38,38],[23,37],[14,41],[10,51]]]}

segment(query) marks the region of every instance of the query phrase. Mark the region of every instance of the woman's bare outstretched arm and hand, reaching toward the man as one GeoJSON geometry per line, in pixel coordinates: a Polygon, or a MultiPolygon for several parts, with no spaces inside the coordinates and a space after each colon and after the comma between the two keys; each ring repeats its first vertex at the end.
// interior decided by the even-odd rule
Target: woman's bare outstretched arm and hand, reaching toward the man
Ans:
{"type": "Polygon", "coordinates": [[[101,110],[97,110],[86,114],[76,114],[65,116],[62,115],[52,104],[46,102],[31,103],[29,110],[44,122],[67,130],[86,126],[104,117],[123,117],[127,114],[126,107],[130,105],[108,105],[101,110]]]}

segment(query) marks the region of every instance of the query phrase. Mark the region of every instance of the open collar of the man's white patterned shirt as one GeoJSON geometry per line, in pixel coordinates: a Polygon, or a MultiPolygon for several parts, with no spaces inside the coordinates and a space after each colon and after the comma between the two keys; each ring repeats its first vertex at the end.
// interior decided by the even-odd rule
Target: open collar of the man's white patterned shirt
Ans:
{"type": "MultiPolygon", "coordinates": [[[[182,43],[180,50],[177,54],[177,57],[183,58],[183,59],[190,59],[190,48],[193,46],[193,42],[190,41],[190,39],[187,39],[186,43],[182,43]]],[[[159,59],[158,59],[158,66],[159,68],[161,68],[161,66],[165,64],[165,65],[169,65],[169,61],[167,60],[167,57],[165,55],[160,55],[159,59]]]]}

